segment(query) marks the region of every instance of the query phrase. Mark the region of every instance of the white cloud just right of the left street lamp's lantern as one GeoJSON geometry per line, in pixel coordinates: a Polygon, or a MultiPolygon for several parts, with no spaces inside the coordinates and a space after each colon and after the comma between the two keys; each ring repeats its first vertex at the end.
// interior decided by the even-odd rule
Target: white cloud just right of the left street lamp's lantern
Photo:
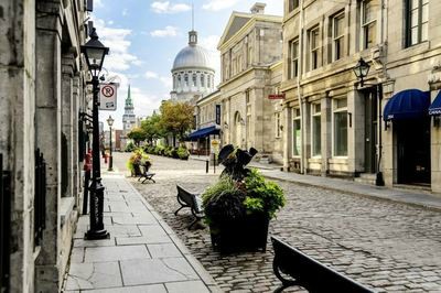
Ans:
{"type": "Polygon", "coordinates": [[[106,23],[99,19],[96,19],[94,24],[99,40],[110,47],[110,54],[105,59],[104,67],[106,69],[123,72],[132,65],[139,66],[141,64],[136,55],[129,53],[131,42],[128,37],[132,33],[131,30],[106,26],[106,23]]]}

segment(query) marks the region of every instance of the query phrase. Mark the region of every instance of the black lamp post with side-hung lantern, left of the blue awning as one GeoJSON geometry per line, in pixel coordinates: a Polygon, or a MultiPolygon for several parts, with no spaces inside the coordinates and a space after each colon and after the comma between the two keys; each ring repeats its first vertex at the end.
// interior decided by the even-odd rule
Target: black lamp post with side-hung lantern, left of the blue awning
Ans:
{"type": "MultiPolygon", "coordinates": [[[[359,79],[359,86],[363,87],[364,84],[364,78],[367,76],[369,73],[369,64],[365,62],[362,57],[359,58],[358,63],[355,65],[353,68],[355,76],[359,79]]],[[[383,96],[383,87],[381,84],[376,84],[376,85],[369,85],[369,86],[375,86],[376,87],[376,95],[377,95],[377,100],[378,100],[378,144],[377,144],[377,173],[376,173],[376,178],[375,178],[375,185],[377,186],[385,186],[385,180],[383,177],[383,172],[379,171],[380,169],[380,162],[381,162],[381,150],[383,150],[383,144],[381,144],[381,96],[383,96]]]]}

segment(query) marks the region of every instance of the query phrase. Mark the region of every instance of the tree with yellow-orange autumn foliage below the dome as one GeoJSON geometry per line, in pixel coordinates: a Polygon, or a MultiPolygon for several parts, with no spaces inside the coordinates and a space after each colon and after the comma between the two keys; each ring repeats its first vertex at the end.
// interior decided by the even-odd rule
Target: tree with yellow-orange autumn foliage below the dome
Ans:
{"type": "Polygon", "coordinates": [[[193,128],[194,107],[191,104],[165,100],[160,110],[160,124],[173,135],[173,143],[176,137],[182,140],[185,132],[193,128]]]}

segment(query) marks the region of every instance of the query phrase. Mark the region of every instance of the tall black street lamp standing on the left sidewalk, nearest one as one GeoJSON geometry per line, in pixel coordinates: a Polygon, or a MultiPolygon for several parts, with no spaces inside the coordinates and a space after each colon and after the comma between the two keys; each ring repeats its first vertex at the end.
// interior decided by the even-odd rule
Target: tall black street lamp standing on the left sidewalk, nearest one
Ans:
{"type": "Polygon", "coordinates": [[[110,235],[104,228],[104,185],[101,183],[101,171],[99,163],[99,121],[98,121],[98,94],[99,94],[99,73],[103,68],[104,57],[109,53],[109,48],[98,41],[96,29],[90,33],[90,40],[83,45],[82,53],[86,58],[87,67],[92,75],[94,106],[92,111],[93,120],[93,178],[90,191],[90,227],[86,232],[87,240],[107,239],[110,235]]]}

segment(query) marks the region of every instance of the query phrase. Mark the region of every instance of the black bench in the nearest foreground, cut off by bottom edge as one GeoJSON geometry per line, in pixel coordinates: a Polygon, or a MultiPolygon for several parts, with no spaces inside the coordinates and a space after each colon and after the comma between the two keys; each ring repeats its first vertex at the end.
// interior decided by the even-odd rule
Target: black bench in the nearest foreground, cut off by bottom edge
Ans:
{"type": "Polygon", "coordinates": [[[373,293],[364,285],[308,257],[276,237],[271,237],[275,249],[272,269],[282,284],[275,292],[289,286],[302,286],[309,292],[373,293]],[[282,275],[283,274],[283,275],[282,275]],[[289,275],[292,279],[286,279],[289,275]]]}

